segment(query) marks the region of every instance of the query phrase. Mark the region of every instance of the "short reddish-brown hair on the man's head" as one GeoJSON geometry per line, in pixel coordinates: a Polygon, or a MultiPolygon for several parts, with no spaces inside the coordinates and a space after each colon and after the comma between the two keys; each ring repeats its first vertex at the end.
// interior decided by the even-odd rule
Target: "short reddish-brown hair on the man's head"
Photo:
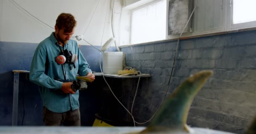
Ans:
{"type": "Polygon", "coordinates": [[[56,26],[61,29],[64,28],[64,32],[70,33],[76,26],[77,21],[71,13],[61,13],[56,19],[56,26]]]}

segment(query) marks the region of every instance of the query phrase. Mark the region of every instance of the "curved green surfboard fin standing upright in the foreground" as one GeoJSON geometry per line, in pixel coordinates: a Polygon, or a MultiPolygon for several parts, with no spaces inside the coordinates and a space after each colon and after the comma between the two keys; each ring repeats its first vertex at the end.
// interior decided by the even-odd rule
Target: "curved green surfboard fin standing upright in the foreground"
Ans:
{"type": "Polygon", "coordinates": [[[189,76],[160,107],[147,129],[141,133],[163,131],[189,132],[187,116],[195,95],[213,71],[204,70],[189,76]]]}

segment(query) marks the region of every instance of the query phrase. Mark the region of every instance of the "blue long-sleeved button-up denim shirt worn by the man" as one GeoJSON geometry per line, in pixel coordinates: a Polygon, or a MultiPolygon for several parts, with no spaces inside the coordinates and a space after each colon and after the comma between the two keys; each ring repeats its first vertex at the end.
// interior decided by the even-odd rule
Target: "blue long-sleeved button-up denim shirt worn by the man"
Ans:
{"type": "MultiPolygon", "coordinates": [[[[77,74],[85,76],[91,72],[76,41],[69,40],[64,48],[60,47],[62,50],[68,49],[72,54],[77,54],[76,68],[71,66],[72,69],[70,70],[69,64],[63,64],[67,80],[76,80],[77,74]]],[[[50,111],[63,113],[79,108],[79,90],[75,94],[62,92],[63,82],[61,80],[64,80],[64,74],[61,65],[55,60],[59,53],[59,44],[53,32],[51,36],[38,44],[32,59],[29,80],[39,85],[43,106],[50,111]],[[58,81],[57,79],[61,80],[58,81]]]]}

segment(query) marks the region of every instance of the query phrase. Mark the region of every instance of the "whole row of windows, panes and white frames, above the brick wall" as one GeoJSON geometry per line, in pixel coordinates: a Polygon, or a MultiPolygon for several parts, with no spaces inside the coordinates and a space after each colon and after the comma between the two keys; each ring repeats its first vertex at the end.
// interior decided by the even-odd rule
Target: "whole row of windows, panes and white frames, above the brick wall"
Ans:
{"type": "Polygon", "coordinates": [[[182,37],[256,28],[256,0],[139,1],[151,3],[124,8],[120,26],[121,45],[178,38],[179,31],[194,9],[191,23],[188,23],[182,37]]]}

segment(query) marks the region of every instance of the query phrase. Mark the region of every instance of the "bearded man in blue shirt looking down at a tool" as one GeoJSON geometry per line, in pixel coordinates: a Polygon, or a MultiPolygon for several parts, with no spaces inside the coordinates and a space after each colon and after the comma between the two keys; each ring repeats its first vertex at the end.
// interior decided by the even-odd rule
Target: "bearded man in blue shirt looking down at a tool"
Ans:
{"type": "Polygon", "coordinates": [[[75,26],[72,14],[61,13],[55,32],[38,44],[32,59],[29,80],[39,85],[46,126],[80,126],[79,90],[72,90],[72,81],[77,74],[95,79],[77,42],[70,40],[75,26]],[[68,61],[61,62],[59,57],[68,61]]]}

